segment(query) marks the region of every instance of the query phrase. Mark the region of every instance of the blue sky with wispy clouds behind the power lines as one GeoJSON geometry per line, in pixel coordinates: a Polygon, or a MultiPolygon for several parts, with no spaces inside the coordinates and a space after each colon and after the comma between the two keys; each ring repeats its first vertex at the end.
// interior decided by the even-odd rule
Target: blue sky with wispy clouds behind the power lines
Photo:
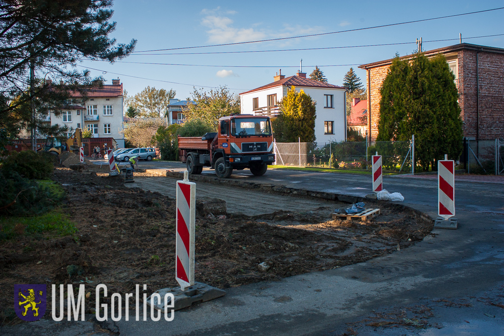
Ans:
{"type": "MultiPolygon", "coordinates": [[[[498,7],[504,7],[504,1],[363,1],[357,3],[347,1],[173,2],[116,0],[112,19],[117,22],[117,28],[110,37],[125,43],[135,38],[138,40],[136,51],[144,51],[318,34],[498,7]]],[[[504,34],[503,18],[504,10],[498,10],[317,37],[160,51],[151,52],[151,55],[136,52],[114,64],[83,61],[81,65],[100,70],[91,70],[91,74],[92,76],[102,75],[107,80],[106,84],[110,84],[111,79],[119,77],[129,95],[134,95],[149,85],[157,89],[174,89],[177,92],[176,98],[179,99],[189,97],[193,86],[206,87],[204,90],[210,90],[209,87],[227,86],[232,89],[233,93],[254,89],[273,82],[273,76],[279,69],[282,69],[283,75],[294,75],[299,69],[300,59],[303,60],[303,72],[309,75],[314,69],[314,65],[319,65],[329,83],[341,85],[350,65],[324,65],[364,64],[392,58],[396,52],[400,55],[410,54],[416,49],[414,43],[416,38],[420,37],[424,41],[424,50],[457,44],[459,43],[459,33],[462,33],[463,42],[504,48],[504,35],[465,39],[504,34]],[[426,42],[451,38],[457,40],[426,42]],[[401,42],[413,43],[283,52],[152,55],[153,53],[254,51],[401,42]],[[260,68],[236,68],[233,65],[260,66],[260,68]],[[263,68],[263,66],[272,66],[273,68],[263,68]],[[291,68],[288,68],[289,66],[291,68]],[[103,74],[102,71],[107,73],[103,74]]],[[[352,65],[352,67],[361,78],[362,83],[365,84],[365,72],[357,69],[357,65],[352,65]]]]}

